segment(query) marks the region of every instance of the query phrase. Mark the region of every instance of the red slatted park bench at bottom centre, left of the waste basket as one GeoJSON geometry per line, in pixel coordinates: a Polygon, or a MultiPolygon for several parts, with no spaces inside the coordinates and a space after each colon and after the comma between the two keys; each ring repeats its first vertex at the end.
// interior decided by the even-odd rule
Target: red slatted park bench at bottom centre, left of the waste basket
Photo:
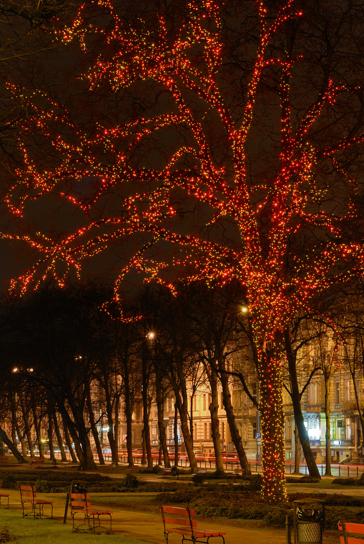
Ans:
{"type": "Polygon", "coordinates": [[[223,544],[225,544],[224,535],[226,535],[226,533],[209,531],[197,527],[194,510],[162,505],[159,505],[159,510],[162,514],[166,544],[168,544],[168,535],[170,533],[182,535],[182,543],[184,540],[190,540],[193,544],[195,544],[195,542],[207,544],[209,539],[213,536],[220,536],[223,539],[223,544]],[[173,515],[174,517],[170,517],[169,515],[173,515]]]}

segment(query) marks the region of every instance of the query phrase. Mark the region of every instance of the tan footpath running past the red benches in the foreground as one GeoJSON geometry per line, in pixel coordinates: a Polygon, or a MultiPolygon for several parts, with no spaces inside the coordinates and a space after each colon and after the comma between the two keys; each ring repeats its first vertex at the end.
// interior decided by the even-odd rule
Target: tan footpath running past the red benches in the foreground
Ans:
{"type": "MultiPolygon", "coordinates": [[[[10,496],[9,508],[14,510],[21,510],[20,504],[20,492],[15,490],[2,490],[3,493],[8,493],[10,496]]],[[[108,493],[109,496],[109,493],[108,493]]],[[[65,510],[65,494],[45,494],[38,493],[38,497],[44,500],[53,501],[53,518],[58,520],[59,523],[63,523],[64,510],[65,510]]],[[[95,502],[95,495],[91,496],[94,500],[97,508],[102,508],[102,494],[97,497],[95,502]]],[[[156,544],[165,544],[163,535],[163,524],[161,516],[151,512],[141,512],[137,510],[127,510],[122,508],[114,508],[105,505],[107,509],[113,510],[113,533],[125,536],[132,536],[140,540],[147,542],[155,542],[156,544]]],[[[0,522],[6,521],[6,509],[0,510],[0,522]]],[[[38,520],[42,523],[42,520],[38,520]]],[[[208,522],[198,522],[199,527],[205,529],[214,529],[226,532],[225,542],[226,544],[285,544],[286,534],[282,529],[261,529],[250,527],[237,527],[229,523],[215,522],[213,520],[208,522]]],[[[67,524],[72,530],[72,519],[70,511],[67,516],[67,524]]],[[[103,541],[107,542],[107,536],[103,537],[103,541]]],[[[172,534],[169,536],[168,542],[170,544],[181,544],[181,536],[172,534]]],[[[221,539],[214,539],[216,544],[222,544],[221,539]]],[[[326,539],[324,537],[323,542],[325,544],[332,544],[333,540],[326,539]]]]}

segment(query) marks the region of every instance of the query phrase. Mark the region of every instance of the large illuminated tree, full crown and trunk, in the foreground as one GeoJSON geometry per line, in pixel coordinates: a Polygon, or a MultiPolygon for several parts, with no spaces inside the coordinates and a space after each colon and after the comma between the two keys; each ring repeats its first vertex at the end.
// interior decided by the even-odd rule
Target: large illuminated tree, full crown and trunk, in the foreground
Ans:
{"type": "Polygon", "coordinates": [[[302,5],[90,1],[63,33],[83,52],[72,92],[11,84],[27,121],[10,211],[21,224],[34,199],[49,207],[52,195],[76,209],[67,233],[40,222],[5,234],[34,252],[13,288],[50,274],[63,285],[102,251],[113,269],[125,264],[117,300],[135,273],[167,285],[171,274],[238,280],[271,502],[286,494],[283,331],[363,260],[362,13],[351,0],[302,5]]]}

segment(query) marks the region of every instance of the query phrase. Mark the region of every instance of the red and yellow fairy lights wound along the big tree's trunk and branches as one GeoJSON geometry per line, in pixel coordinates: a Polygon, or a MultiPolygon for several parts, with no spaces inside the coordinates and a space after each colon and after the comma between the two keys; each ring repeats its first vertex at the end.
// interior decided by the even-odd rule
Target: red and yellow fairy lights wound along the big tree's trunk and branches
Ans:
{"type": "MultiPolygon", "coordinates": [[[[157,30],[152,30],[141,17],[135,28],[124,24],[108,0],[81,5],[71,26],[57,32],[61,32],[65,42],[78,40],[85,55],[92,48],[93,40],[104,44],[83,76],[90,92],[107,88],[111,93],[152,80],[168,93],[173,110],[140,116],[119,125],[114,123],[115,126],[110,123],[106,126],[100,120],[95,122],[92,131],[87,131],[82,123],[78,125],[73,119],[72,112],[44,91],[28,91],[9,84],[14,96],[29,112],[27,120],[19,121],[18,126],[23,142],[23,163],[17,166],[16,183],[7,195],[10,212],[21,218],[29,200],[49,193],[58,194],[84,214],[84,224],[61,239],[41,232],[26,236],[7,233],[3,237],[23,240],[40,254],[33,267],[11,283],[11,289],[20,288],[21,293],[29,287],[36,289],[49,275],[63,286],[71,269],[81,274],[85,260],[133,236],[140,236],[143,243],[120,272],[116,300],[120,298],[122,279],[132,270],[161,282],[161,272],[171,265],[184,269],[184,277],[188,271],[191,281],[203,278],[207,283],[218,280],[224,285],[238,279],[246,289],[260,355],[263,494],[274,502],[286,496],[280,367],[283,329],[298,308],[309,305],[312,293],[337,281],[338,276],[330,275],[329,271],[338,262],[342,259],[355,262],[346,272],[347,277],[363,268],[363,249],[359,243],[328,240],[322,248],[316,245],[291,256],[294,264],[287,271],[287,239],[307,225],[316,225],[323,233],[340,235],[344,218],[337,218],[324,208],[312,211],[312,202],[319,203],[324,197],[316,172],[320,157],[331,160],[339,169],[335,153],[343,147],[360,144],[363,136],[343,138],[321,151],[320,156],[307,142],[310,128],[326,104],[334,104],[336,97],[348,90],[331,80],[307,110],[300,126],[293,129],[289,82],[295,59],[273,57],[267,46],[275,33],[280,32],[282,24],[304,14],[293,10],[293,0],[289,0],[275,18],[268,13],[263,0],[256,5],[261,38],[239,119],[233,118],[219,79],[224,58],[219,1],[190,0],[178,28],[171,28],[160,13],[157,30]],[[113,24],[106,28],[93,26],[87,15],[90,5],[108,13],[113,24]],[[256,188],[251,186],[246,173],[249,158],[246,146],[262,75],[272,65],[281,70],[280,165],[274,183],[259,186],[265,195],[255,202],[256,188]],[[202,112],[213,110],[219,119],[220,130],[229,142],[233,169],[214,157],[203,115],[191,105],[192,95],[204,104],[202,112]],[[135,165],[139,146],[171,127],[186,130],[191,135],[190,141],[177,145],[165,164],[158,168],[135,165]],[[34,131],[42,134],[54,150],[52,165],[43,164],[36,153],[28,149],[27,138],[34,131]],[[112,159],[106,160],[106,157],[112,159]],[[183,162],[186,157],[192,164],[190,168],[183,162]],[[87,197],[73,190],[88,179],[94,182],[87,197]],[[122,209],[108,214],[108,208],[100,202],[114,190],[124,191],[122,209]],[[237,229],[239,242],[221,244],[219,239],[203,236],[201,229],[184,231],[180,226],[183,218],[178,199],[182,204],[184,199],[210,209],[205,225],[209,229],[229,220],[237,229]],[[264,237],[262,218],[269,224],[264,237]],[[161,240],[178,246],[181,251],[173,258],[148,256],[147,250],[161,240]],[[62,274],[59,262],[66,264],[62,274]]],[[[348,210],[346,218],[354,217],[353,202],[349,202],[348,210]]],[[[343,278],[343,273],[340,274],[343,278]]]]}

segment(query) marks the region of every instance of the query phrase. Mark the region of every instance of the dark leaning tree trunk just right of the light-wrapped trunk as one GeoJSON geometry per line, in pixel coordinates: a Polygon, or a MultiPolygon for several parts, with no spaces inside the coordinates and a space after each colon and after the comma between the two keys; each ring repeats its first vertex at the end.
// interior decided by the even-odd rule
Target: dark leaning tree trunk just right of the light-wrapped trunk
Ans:
{"type": "MultiPolygon", "coordinates": [[[[306,459],[307,468],[309,469],[310,476],[312,478],[321,479],[320,473],[316,465],[316,461],[314,460],[314,457],[313,457],[313,453],[310,446],[309,433],[307,432],[307,429],[305,427],[304,417],[301,410],[301,394],[299,392],[299,387],[298,387],[297,368],[295,365],[295,358],[293,354],[291,338],[289,337],[289,331],[287,329],[285,330],[284,339],[285,339],[285,349],[286,349],[286,355],[287,355],[287,361],[288,361],[289,380],[291,381],[291,391],[292,391],[291,397],[292,397],[292,404],[293,404],[295,428],[297,429],[299,434],[301,446],[303,449],[303,453],[306,459]]],[[[294,470],[296,470],[296,468],[294,470]]],[[[298,469],[298,472],[299,472],[299,469],[298,469]]]]}

